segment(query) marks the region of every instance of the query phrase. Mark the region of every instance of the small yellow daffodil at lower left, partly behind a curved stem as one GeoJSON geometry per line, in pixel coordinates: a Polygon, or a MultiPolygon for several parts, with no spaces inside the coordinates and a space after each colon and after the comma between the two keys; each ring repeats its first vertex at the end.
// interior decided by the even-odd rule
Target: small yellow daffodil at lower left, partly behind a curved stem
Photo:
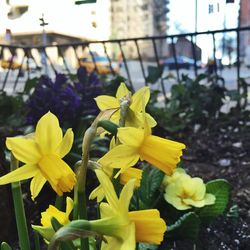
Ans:
{"type": "Polygon", "coordinates": [[[74,202],[70,197],[66,199],[66,212],[58,210],[56,207],[49,205],[45,212],[41,213],[41,224],[42,226],[32,225],[32,228],[38,231],[42,237],[50,241],[55,231],[51,225],[51,219],[55,218],[61,225],[66,225],[70,222],[69,215],[73,210],[74,202]]]}

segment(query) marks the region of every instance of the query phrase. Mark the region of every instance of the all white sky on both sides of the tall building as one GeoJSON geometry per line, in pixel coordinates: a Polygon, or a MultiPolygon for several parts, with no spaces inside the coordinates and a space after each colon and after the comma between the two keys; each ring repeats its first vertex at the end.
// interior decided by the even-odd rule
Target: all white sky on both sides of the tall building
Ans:
{"type": "MultiPolygon", "coordinates": [[[[75,5],[75,0],[10,0],[11,3],[29,2],[29,12],[25,13],[21,18],[9,20],[6,17],[8,6],[5,0],[0,0],[0,34],[4,34],[6,28],[12,32],[30,32],[42,31],[39,18],[44,13],[45,21],[49,23],[46,30],[57,31],[68,35],[77,35],[80,37],[94,37],[95,39],[108,39],[106,29],[108,16],[102,11],[107,8],[109,0],[97,0],[98,4],[102,5],[97,11],[96,17],[101,20],[98,29],[89,29],[90,23],[86,23],[87,16],[91,15],[93,5],[75,5]],[[106,32],[106,33],[105,33],[106,32]]],[[[180,32],[195,31],[195,2],[196,0],[169,0],[168,13],[168,34],[178,34],[180,32]]],[[[239,1],[235,0],[233,4],[225,4],[226,0],[197,0],[197,31],[208,31],[224,28],[224,20],[226,28],[237,27],[237,16],[239,1]],[[214,6],[214,12],[209,14],[208,7],[214,6]],[[219,11],[217,10],[219,4],[219,11]]],[[[90,18],[91,20],[91,18],[90,18]]],[[[197,44],[205,51],[203,53],[203,61],[206,61],[210,54],[206,51],[211,51],[212,42],[207,37],[199,37],[197,44]]],[[[217,55],[218,57],[220,55],[217,55]]]]}

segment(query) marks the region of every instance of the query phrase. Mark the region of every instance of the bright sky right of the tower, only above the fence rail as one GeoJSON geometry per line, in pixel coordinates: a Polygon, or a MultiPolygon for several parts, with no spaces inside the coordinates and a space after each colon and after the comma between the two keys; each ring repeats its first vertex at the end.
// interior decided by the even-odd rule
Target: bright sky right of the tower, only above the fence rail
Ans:
{"type": "MultiPolygon", "coordinates": [[[[180,24],[184,32],[195,31],[195,0],[169,0],[170,34],[180,33],[175,28],[180,24]]],[[[226,4],[226,0],[197,0],[197,31],[223,29],[224,17],[227,28],[237,27],[239,1],[226,4]],[[214,12],[209,14],[209,4],[214,6],[214,12]],[[217,10],[219,4],[219,11],[217,10]]]]}

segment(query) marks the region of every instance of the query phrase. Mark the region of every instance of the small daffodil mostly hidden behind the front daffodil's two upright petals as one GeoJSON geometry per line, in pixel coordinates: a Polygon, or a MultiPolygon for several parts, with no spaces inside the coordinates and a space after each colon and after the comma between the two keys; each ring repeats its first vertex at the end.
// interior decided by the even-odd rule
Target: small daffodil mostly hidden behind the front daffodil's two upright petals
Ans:
{"type": "MultiPolygon", "coordinates": [[[[101,168],[104,173],[111,178],[113,175],[113,169],[108,167],[102,167],[101,168]]],[[[137,168],[129,168],[124,173],[120,174],[120,183],[122,185],[125,185],[127,182],[129,182],[131,179],[135,179],[135,187],[140,187],[141,184],[141,178],[142,178],[142,170],[137,168]]],[[[104,190],[102,188],[102,185],[99,185],[97,188],[95,188],[89,195],[90,200],[97,199],[97,202],[101,202],[105,197],[104,190]]]]}

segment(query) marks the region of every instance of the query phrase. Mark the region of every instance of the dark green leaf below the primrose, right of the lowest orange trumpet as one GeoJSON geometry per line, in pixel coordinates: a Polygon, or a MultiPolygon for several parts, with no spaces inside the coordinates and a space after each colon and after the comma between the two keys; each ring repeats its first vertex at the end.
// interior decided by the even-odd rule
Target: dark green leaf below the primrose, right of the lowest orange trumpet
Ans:
{"type": "Polygon", "coordinates": [[[181,216],[173,225],[168,226],[166,237],[196,241],[199,229],[199,217],[194,212],[189,212],[181,216]]]}

